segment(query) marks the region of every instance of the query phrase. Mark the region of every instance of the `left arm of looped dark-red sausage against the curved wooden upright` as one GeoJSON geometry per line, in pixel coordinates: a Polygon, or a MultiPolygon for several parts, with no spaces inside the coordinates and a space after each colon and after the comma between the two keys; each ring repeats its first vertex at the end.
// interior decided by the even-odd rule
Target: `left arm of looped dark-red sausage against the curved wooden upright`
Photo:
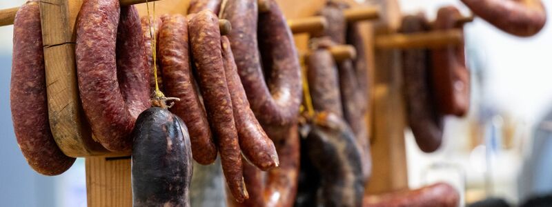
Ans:
{"type": "Polygon", "coordinates": [[[77,77],[82,106],[100,144],[128,152],[135,119],[117,83],[115,45],[119,1],[84,1],[77,17],[77,77]]]}

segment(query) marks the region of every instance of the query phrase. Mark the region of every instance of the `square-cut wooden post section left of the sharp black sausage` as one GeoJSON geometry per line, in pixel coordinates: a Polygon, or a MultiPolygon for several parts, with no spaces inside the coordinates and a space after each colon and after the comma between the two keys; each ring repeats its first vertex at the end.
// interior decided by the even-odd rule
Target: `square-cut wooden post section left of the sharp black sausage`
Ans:
{"type": "Polygon", "coordinates": [[[130,157],[87,157],[86,194],[89,207],[132,206],[130,157]]]}

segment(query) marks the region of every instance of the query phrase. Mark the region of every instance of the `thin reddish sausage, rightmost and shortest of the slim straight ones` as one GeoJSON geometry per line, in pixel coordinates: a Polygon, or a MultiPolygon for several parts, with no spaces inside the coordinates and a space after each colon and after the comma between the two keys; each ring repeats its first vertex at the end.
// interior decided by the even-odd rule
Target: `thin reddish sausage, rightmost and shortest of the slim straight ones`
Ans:
{"type": "Polygon", "coordinates": [[[245,157],[261,170],[274,168],[278,166],[276,148],[249,108],[249,101],[242,81],[239,80],[234,55],[227,37],[221,37],[221,48],[224,74],[232,98],[234,119],[239,136],[239,147],[245,157]]]}

